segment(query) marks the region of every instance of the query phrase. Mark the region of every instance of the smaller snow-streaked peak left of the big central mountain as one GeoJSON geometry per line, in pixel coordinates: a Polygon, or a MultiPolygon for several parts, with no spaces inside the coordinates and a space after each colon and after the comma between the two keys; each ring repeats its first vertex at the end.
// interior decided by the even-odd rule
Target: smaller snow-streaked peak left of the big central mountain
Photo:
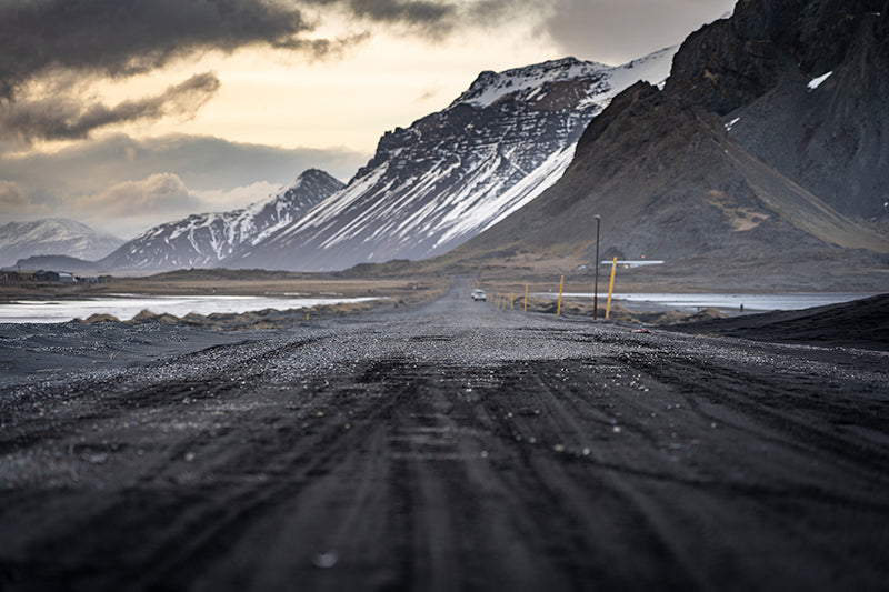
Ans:
{"type": "Polygon", "coordinates": [[[298,220],[343,185],[310,169],[277,194],[247,208],[202,213],[154,227],[99,261],[102,269],[164,271],[217,265],[298,220]]]}

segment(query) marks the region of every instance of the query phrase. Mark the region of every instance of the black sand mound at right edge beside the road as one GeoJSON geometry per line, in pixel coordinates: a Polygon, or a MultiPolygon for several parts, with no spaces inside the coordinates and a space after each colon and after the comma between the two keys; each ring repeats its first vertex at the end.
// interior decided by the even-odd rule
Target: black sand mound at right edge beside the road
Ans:
{"type": "Polygon", "coordinates": [[[755,341],[889,351],[889,294],[798,311],[687,322],[669,329],[755,341]]]}

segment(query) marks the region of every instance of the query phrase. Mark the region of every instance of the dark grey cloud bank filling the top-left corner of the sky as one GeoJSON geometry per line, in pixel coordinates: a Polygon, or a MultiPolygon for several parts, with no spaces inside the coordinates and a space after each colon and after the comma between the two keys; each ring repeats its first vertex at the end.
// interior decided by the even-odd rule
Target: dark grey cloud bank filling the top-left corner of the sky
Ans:
{"type": "Polygon", "coordinates": [[[48,68],[126,77],[309,29],[294,8],[260,0],[0,0],[0,96],[48,68]]]}

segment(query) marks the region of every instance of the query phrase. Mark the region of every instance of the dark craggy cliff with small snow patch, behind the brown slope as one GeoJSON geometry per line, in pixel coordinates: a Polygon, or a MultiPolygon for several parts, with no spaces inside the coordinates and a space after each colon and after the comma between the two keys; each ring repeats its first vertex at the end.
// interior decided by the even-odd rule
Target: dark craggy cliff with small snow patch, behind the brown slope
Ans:
{"type": "Polygon", "coordinates": [[[889,197],[885,0],[745,0],[692,34],[665,92],[717,113],[751,154],[846,215],[889,197]]]}

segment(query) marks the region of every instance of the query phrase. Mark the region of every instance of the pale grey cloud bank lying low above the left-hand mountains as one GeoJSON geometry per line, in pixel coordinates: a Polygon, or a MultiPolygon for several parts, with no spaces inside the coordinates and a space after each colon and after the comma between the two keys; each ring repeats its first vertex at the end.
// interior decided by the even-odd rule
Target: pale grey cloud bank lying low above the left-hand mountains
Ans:
{"type": "Polygon", "coordinates": [[[0,154],[0,223],[63,215],[127,238],[189,213],[243,207],[309,168],[346,181],[369,158],[183,134],[114,134],[52,153],[0,154]]]}

